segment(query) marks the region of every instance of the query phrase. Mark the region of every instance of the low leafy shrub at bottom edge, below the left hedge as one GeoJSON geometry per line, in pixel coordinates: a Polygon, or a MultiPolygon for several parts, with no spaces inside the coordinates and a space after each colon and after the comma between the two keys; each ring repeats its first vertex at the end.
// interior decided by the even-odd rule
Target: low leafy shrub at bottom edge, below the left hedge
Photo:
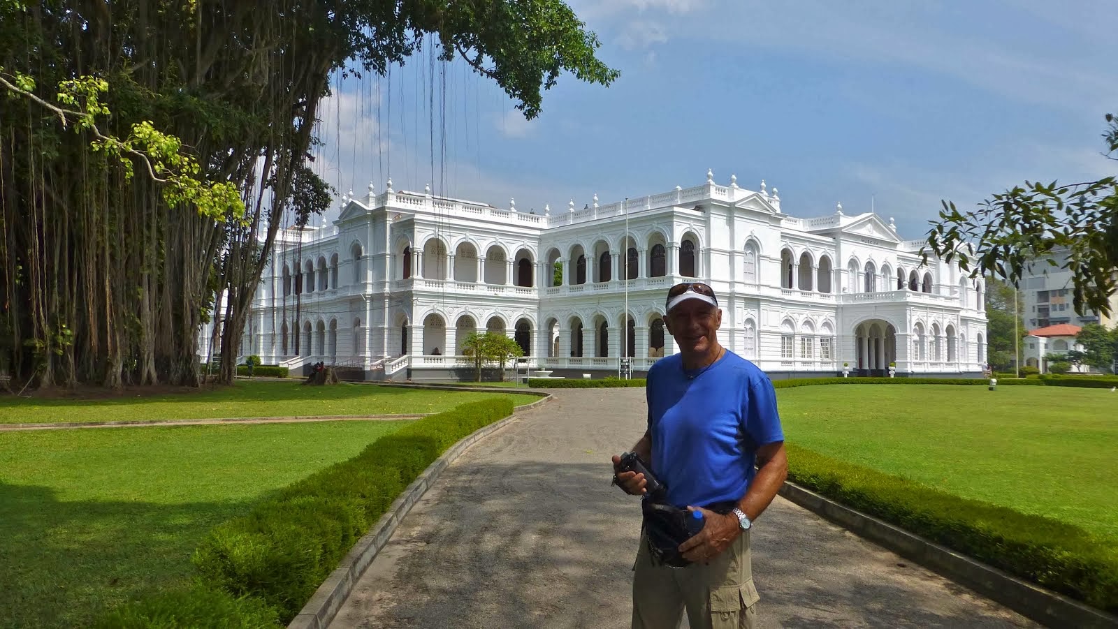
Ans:
{"type": "Polygon", "coordinates": [[[94,625],[95,629],[177,629],[221,627],[224,629],[280,629],[275,609],[253,598],[196,584],[168,590],[113,610],[94,625]]]}

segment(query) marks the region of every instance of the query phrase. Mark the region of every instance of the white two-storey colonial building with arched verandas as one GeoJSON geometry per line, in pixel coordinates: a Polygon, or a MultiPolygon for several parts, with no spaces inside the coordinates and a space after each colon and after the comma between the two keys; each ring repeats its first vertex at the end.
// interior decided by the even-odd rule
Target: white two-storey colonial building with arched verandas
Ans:
{"type": "MultiPolygon", "coordinates": [[[[540,213],[388,188],[344,197],[333,225],[286,230],[254,299],[241,355],[318,361],[368,378],[455,378],[475,331],[514,337],[557,375],[643,372],[675,351],[666,289],[700,278],[721,342],[773,378],[978,374],[983,284],[921,264],[874,213],[784,212],[777,190],[707,182],[540,213]]],[[[207,332],[202,332],[206,339],[207,332]]]]}

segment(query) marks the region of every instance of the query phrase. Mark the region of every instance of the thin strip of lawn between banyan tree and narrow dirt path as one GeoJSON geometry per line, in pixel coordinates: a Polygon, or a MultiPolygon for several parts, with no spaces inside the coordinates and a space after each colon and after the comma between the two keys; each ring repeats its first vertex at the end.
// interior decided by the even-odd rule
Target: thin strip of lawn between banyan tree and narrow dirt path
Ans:
{"type": "MultiPolygon", "coordinates": [[[[440,412],[504,393],[436,391],[341,383],[237,382],[231,387],[163,395],[101,400],[0,398],[0,423],[122,421],[311,414],[406,414],[440,412]]],[[[511,395],[517,406],[539,400],[511,395]]]]}

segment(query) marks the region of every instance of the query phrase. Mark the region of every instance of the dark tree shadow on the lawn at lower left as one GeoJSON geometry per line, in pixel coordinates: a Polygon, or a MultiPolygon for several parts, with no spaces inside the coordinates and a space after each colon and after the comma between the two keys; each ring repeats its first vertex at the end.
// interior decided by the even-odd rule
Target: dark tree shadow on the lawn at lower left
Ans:
{"type": "Polygon", "coordinates": [[[84,627],[180,583],[209,530],[255,502],[60,502],[47,487],[0,483],[0,627],[84,627]]]}

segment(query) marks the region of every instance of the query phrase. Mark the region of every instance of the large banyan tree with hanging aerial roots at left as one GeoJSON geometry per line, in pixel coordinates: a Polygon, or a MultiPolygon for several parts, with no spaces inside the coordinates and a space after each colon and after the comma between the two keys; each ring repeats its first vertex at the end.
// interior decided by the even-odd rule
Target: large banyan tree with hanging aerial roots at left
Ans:
{"type": "Polygon", "coordinates": [[[333,74],[427,47],[531,118],[562,73],[617,78],[598,46],[560,0],[0,0],[0,370],[197,384],[214,317],[231,380],[285,212],[330,202],[333,74]]]}

